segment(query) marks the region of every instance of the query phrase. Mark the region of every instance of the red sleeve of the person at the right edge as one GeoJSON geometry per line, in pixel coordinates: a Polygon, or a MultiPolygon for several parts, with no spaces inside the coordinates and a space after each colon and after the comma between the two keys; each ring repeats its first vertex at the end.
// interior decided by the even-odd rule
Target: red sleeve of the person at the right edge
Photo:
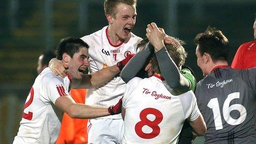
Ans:
{"type": "Polygon", "coordinates": [[[231,63],[231,68],[244,69],[244,56],[243,56],[243,45],[239,46],[236,55],[234,55],[233,61],[231,63]]]}

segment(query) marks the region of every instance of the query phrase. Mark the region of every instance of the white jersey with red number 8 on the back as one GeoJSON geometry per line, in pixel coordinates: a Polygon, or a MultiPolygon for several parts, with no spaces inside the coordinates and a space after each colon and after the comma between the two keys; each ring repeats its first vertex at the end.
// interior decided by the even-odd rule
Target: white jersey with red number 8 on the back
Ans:
{"type": "Polygon", "coordinates": [[[194,93],[174,96],[161,78],[135,77],[127,83],[122,143],[177,143],[185,119],[199,117],[194,93]]]}

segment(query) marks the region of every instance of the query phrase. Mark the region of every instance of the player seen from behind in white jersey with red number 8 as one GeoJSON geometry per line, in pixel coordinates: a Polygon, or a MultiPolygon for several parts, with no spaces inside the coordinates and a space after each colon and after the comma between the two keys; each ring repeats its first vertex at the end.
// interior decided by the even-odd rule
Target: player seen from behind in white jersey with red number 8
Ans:
{"type": "Polygon", "coordinates": [[[182,41],[164,44],[164,31],[154,23],[148,25],[146,35],[155,51],[151,58],[154,73],[150,78],[135,77],[127,83],[122,103],[125,121],[122,143],[177,143],[186,119],[196,134],[204,135],[206,126],[194,93],[191,90],[179,93],[170,88],[159,68],[159,60],[167,55],[169,66],[179,73],[186,57],[182,41]]]}

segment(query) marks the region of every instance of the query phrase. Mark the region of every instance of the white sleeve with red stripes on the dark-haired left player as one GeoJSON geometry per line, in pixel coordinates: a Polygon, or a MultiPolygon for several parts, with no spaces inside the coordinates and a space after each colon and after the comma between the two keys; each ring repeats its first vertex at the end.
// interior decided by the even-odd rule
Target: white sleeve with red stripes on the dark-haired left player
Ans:
{"type": "Polygon", "coordinates": [[[44,95],[45,99],[49,99],[55,104],[57,98],[68,95],[68,90],[64,87],[63,78],[52,77],[45,78],[44,81],[42,81],[40,93],[44,95]]]}

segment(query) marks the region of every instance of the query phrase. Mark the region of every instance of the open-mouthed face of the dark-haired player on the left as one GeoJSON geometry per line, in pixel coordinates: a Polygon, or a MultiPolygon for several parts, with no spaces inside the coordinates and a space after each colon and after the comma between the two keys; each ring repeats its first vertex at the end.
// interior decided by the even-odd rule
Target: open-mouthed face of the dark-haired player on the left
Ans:
{"type": "Polygon", "coordinates": [[[79,51],[74,53],[73,58],[67,55],[68,70],[72,79],[82,79],[83,72],[89,66],[89,53],[86,47],[80,47],[79,51]]]}

